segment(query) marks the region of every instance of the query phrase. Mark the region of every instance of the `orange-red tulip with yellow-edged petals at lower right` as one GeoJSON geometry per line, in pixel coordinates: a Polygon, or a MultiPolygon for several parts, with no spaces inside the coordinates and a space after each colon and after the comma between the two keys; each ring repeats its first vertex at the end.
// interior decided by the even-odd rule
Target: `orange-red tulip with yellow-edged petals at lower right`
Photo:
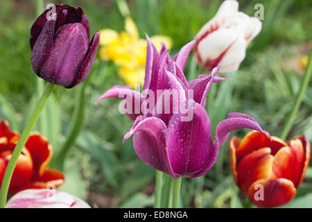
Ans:
{"type": "Polygon", "coordinates": [[[310,161],[310,143],[304,135],[284,142],[252,131],[229,141],[236,185],[259,207],[278,207],[296,194],[310,161]]]}

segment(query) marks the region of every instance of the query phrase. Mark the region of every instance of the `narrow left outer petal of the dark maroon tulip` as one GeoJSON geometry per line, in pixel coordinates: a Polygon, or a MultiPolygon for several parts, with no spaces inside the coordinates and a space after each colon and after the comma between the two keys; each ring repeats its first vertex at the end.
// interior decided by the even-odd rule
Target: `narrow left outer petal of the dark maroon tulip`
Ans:
{"type": "Polygon", "coordinates": [[[49,58],[54,44],[54,30],[56,19],[46,21],[42,32],[37,37],[37,42],[33,46],[33,53],[31,55],[31,65],[35,74],[40,75],[40,67],[49,58]]]}

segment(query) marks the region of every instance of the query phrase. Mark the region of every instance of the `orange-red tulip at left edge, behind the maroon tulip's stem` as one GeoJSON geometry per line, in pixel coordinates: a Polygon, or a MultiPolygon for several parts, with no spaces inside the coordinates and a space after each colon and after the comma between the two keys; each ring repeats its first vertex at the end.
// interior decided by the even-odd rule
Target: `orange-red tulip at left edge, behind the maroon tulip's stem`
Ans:
{"type": "MultiPolygon", "coordinates": [[[[7,121],[0,122],[0,186],[19,134],[10,131],[7,121]]],[[[17,160],[9,193],[22,189],[59,187],[64,175],[55,169],[47,169],[53,154],[52,146],[39,133],[31,133],[17,160]]]]}

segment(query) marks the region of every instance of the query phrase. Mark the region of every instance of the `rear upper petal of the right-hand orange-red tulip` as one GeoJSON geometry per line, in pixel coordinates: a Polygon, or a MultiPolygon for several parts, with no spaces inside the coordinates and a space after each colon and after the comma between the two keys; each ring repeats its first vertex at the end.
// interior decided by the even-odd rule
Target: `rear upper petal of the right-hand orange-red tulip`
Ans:
{"type": "Polygon", "coordinates": [[[239,162],[242,157],[258,148],[270,147],[272,155],[275,155],[280,148],[287,146],[284,141],[277,137],[272,136],[271,139],[272,140],[270,140],[267,135],[258,131],[251,131],[245,135],[236,149],[237,162],[239,162]]]}

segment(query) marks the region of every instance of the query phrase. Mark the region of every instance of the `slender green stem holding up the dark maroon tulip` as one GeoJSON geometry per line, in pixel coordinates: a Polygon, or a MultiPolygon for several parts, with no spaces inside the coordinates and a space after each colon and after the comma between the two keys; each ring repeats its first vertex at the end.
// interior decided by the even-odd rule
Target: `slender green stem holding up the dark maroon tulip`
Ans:
{"type": "Polygon", "coordinates": [[[40,116],[40,113],[42,112],[42,109],[44,108],[44,105],[46,104],[46,101],[48,100],[52,92],[53,86],[54,85],[52,83],[46,83],[44,92],[39,102],[37,103],[37,106],[35,110],[33,111],[31,118],[28,120],[26,128],[21,134],[21,137],[19,138],[19,142],[17,142],[17,145],[15,146],[15,149],[10,158],[10,161],[8,162],[8,167],[6,167],[6,173],[4,174],[2,185],[1,185],[1,190],[0,190],[0,208],[6,207],[8,189],[10,187],[11,178],[12,178],[15,166],[17,164],[19,154],[21,153],[21,150],[24,148],[24,145],[26,144],[26,140],[28,139],[28,136],[31,134],[31,130],[33,129],[33,126],[35,126],[35,123],[38,117],[40,116]]]}

